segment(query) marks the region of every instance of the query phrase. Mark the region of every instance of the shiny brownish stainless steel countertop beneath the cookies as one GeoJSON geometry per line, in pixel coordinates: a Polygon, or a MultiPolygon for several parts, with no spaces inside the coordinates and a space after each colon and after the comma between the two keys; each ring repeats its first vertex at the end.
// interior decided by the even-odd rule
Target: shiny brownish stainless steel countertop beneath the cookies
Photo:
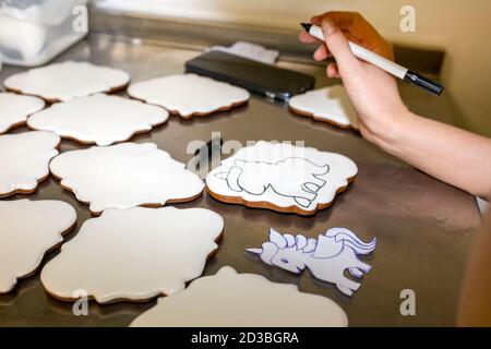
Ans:
{"type": "MultiPolygon", "coordinates": [[[[184,61],[199,53],[160,45],[132,45],[110,36],[93,36],[57,60],[87,60],[121,68],[131,73],[133,81],[142,81],[182,72],[184,61]]],[[[328,83],[323,77],[322,67],[294,62],[279,64],[314,74],[318,86],[328,83]]],[[[20,70],[4,67],[0,80],[20,70]]],[[[453,122],[451,104],[445,97],[431,97],[406,85],[402,86],[402,94],[412,110],[453,122]]],[[[21,128],[14,132],[25,130],[21,128]]],[[[408,167],[351,131],[297,117],[284,105],[262,96],[253,96],[248,106],[207,118],[184,121],[172,117],[165,125],[132,141],[155,142],[178,160],[187,163],[192,157],[185,152],[189,142],[206,142],[216,131],[221,132],[225,141],[237,140],[242,144],[249,140],[306,141],[307,146],[350,157],[359,166],[359,176],[330,209],[307,218],[226,205],[207,194],[194,202],[177,205],[207,207],[225,219],[224,240],[216,256],[207,264],[205,275],[214,274],[223,265],[230,265],[241,273],[256,273],[273,281],[296,284],[304,292],[323,294],[336,301],[347,312],[351,326],[454,324],[466,255],[480,224],[471,195],[408,167]],[[343,297],[333,286],[313,279],[307,272],[298,277],[270,267],[244,252],[244,248],[258,246],[266,240],[270,227],[284,233],[301,232],[316,237],[336,226],[352,229],[363,240],[376,237],[379,242],[375,253],[368,257],[373,268],[351,299],[343,297]],[[403,289],[415,290],[417,316],[400,315],[399,293],[403,289]]],[[[61,144],[62,152],[82,147],[71,141],[61,144]]],[[[25,196],[15,195],[8,200],[21,197],[25,196]]],[[[87,206],[77,203],[52,178],[27,197],[62,200],[76,208],[77,226],[68,239],[89,218],[87,206]]],[[[44,263],[57,253],[50,253],[44,263]]],[[[38,278],[39,273],[20,281],[10,294],[0,297],[1,326],[125,326],[155,304],[155,301],[110,305],[91,302],[88,316],[74,316],[72,304],[47,296],[38,278]]]]}

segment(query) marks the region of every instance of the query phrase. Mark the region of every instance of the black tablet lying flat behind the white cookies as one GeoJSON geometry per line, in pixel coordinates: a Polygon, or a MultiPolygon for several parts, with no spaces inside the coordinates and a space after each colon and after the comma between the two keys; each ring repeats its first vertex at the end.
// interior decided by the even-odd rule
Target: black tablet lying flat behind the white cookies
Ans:
{"type": "Polygon", "coordinates": [[[185,63],[185,71],[206,75],[270,98],[288,100],[312,89],[311,75],[280,69],[221,51],[209,51],[185,63]]]}

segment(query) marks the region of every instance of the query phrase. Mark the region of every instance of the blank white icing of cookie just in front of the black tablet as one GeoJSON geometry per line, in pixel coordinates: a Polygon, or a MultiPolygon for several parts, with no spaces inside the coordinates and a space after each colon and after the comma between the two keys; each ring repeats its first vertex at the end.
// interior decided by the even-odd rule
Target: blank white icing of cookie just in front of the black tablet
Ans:
{"type": "Polygon", "coordinates": [[[128,94],[183,118],[207,115],[247,101],[247,89],[195,74],[170,75],[131,84],[128,94]]]}

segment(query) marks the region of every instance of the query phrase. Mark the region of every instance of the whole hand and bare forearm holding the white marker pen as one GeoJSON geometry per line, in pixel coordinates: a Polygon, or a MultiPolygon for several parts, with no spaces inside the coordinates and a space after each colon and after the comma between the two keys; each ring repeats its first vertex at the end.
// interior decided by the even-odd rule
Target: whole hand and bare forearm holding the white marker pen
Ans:
{"type": "MultiPolygon", "coordinates": [[[[361,15],[328,12],[312,21],[322,22],[325,38],[316,58],[334,56],[337,65],[328,65],[327,74],[342,77],[358,112],[361,134],[420,170],[489,200],[491,140],[410,113],[395,79],[357,59],[350,50],[346,35],[371,41],[371,50],[385,48],[385,57],[391,58],[387,43],[361,15]]],[[[313,38],[307,34],[301,39],[309,43],[313,38]]]]}

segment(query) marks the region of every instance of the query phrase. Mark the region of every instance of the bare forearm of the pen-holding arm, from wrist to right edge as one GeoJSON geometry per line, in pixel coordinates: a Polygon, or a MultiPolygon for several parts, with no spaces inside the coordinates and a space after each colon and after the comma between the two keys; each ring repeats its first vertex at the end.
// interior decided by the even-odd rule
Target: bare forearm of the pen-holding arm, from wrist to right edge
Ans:
{"type": "Polygon", "coordinates": [[[410,112],[382,125],[373,140],[448,184],[491,198],[491,140],[410,112]]]}

